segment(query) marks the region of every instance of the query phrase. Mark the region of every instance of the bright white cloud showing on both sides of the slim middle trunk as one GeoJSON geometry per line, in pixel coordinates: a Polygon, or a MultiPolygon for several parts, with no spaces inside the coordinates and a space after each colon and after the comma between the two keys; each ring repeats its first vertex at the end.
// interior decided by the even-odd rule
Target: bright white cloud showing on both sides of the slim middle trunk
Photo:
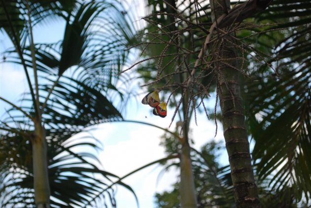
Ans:
{"type": "MultiPolygon", "coordinates": [[[[129,106],[129,109],[135,108],[129,106]]],[[[164,119],[152,115],[151,111],[152,108],[149,106],[140,105],[139,109],[132,111],[128,117],[168,128],[174,110],[169,109],[168,116],[164,119]]],[[[176,121],[170,130],[174,129],[176,121]]],[[[194,120],[191,123],[194,148],[199,150],[206,142],[223,139],[221,124],[218,126],[215,138],[216,128],[213,121],[208,121],[205,115],[197,115],[197,124],[196,126],[194,120]]],[[[159,146],[160,136],[163,134],[161,129],[135,123],[105,124],[102,128],[103,130],[98,130],[94,135],[103,138],[105,148],[100,154],[100,159],[107,171],[123,176],[140,166],[165,157],[164,148],[159,146]]],[[[224,160],[227,160],[226,157],[224,160]]],[[[172,184],[178,181],[179,170],[171,169],[165,172],[157,183],[157,177],[162,169],[162,166],[153,165],[124,179],[124,182],[130,185],[137,194],[141,208],[153,208],[155,193],[171,190],[172,184]]],[[[133,195],[124,188],[118,188],[116,198],[118,208],[136,207],[133,195]]]]}

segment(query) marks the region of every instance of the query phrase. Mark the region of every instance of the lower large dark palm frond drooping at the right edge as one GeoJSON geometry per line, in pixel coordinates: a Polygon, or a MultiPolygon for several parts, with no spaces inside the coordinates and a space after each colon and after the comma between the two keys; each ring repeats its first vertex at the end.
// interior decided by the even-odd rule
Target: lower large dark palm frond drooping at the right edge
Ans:
{"type": "Polygon", "coordinates": [[[260,179],[275,175],[272,188],[295,187],[292,191],[300,201],[302,193],[309,196],[311,192],[311,77],[306,65],[287,72],[283,68],[281,73],[277,80],[251,84],[250,111],[259,117],[250,117],[256,141],[253,157],[259,159],[260,179]]]}

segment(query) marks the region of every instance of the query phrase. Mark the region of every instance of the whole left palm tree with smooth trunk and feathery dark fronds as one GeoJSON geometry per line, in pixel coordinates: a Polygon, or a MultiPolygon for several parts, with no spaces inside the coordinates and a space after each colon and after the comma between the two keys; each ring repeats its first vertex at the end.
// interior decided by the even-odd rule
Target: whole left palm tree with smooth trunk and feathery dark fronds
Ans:
{"type": "Polygon", "coordinates": [[[70,138],[89,125],[122,119],[108,97],[122,96],[115,77],[134,33],[124,11],[117,2],[1,0],[0,27],[13,45],[3,61],[22,66],[30,92],[21,106],[0,97],[12,107],[0,124],[1,207],[82,206],[94,196],[116,206],[110,184],[118,177],[89,160],[96,154],[73,151],[98,142],[70,138]],[[52,17],[66,23],[63,40],[36,43],[33,28],[52,17]]]}

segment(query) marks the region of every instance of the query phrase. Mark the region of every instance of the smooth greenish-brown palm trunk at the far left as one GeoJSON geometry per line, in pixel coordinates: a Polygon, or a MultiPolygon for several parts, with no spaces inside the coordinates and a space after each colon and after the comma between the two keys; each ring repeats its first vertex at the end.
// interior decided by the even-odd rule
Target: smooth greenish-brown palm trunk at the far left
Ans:
{"type": "Polygon", "coordinates": [[[47,171],[47,150],[44,127],[36,125],[32,139],[34,189],[37,208],[50,207],[50,187],[47,171]]]}

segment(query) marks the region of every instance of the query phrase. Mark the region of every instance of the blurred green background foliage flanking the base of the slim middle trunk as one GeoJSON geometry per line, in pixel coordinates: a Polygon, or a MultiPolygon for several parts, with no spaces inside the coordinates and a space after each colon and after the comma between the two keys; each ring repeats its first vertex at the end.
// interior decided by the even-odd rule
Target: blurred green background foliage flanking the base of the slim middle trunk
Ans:
{"type": "MultiPolygon", "coordinates": [[[[167,140],[169,138],[166,138],[167,140]]],[[[173,143],[165,142],[166,151],[172,150],[173,143]]],[[[207,143],[201,148],[201,151],[193,149],[191,158],[194,171],[194,183],[197,192],[198,207],[234,207],[232,192],[232,180],[229,166],[220,166],[221,143],[207,143]]],[[[178,164],[175,164],[178,166],[178,164]]],[[[168,164],[165,168],[169,168],[168,164]]],[[[179,183],[173,185],[170,192],[157,193],[156,206],[159,208],[176,207],[179,208],[179,183]]]]}

